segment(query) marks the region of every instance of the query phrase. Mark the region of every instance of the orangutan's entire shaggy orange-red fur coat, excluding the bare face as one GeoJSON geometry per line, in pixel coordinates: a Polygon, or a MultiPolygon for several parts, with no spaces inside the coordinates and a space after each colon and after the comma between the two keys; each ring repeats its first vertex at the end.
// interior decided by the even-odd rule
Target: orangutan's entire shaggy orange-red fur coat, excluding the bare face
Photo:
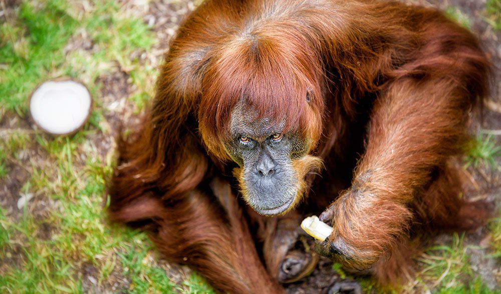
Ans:
{"type": "Polygon", "coordinates": [[[395,281],[408,239],[478,211],[458,197],[447,161],[488,74],[475,37],[433,9],[207,0],[170,43],[140,127],[118,141],[110,217],[149,230],[170,260],[217,291],[282,292],[262,258],[276,268],[285,250],[261,252],[280,243],[277,219],[245,208],[238,170],[229,176],[228,126],[244,101],[310,148],[293,161],[302,197],[291,213],[329,206],[329,240],[341,249],[332,257],[395,281]]]}

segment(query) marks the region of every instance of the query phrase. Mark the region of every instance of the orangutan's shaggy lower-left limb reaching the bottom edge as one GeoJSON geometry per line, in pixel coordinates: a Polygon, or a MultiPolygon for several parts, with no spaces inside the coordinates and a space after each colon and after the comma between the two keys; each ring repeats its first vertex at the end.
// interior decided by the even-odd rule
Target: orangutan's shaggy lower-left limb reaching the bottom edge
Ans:
{"type": "Polygon", "coordinates": [[[219,201],[201,190],[169,204],[144,196],[111,217],[126,223],[153,220],[151,238],[166,258],[188,264],[218,292],[283,293],[258,256],[229,184],[213,179],[208,186],[219,201]]]}

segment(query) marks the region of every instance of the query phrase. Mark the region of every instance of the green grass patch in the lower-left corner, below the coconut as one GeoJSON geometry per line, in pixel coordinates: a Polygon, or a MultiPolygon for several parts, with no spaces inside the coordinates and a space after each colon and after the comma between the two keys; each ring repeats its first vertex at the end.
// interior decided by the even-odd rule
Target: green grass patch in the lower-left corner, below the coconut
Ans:
{"type": "MultiPolygon", "coordinates": [[[[50,198],[57,204],[46,211],[47,216],[43,219],[29,214],[26,206],[18,223],[8,222],[3,214],[0,215],[0,224],[8,223],[13,230],[10,239],[23,244],[21,266],[13,265],[5,272],[0,279],[0,289],[37,293],[83,292],[86,277],[81,268],[84,264],[94,266],[94,278],[100,283],[106,282],[112,272],[128,268],[128,292],[160,293],[171,289],[173,285],[165,270],[156,264],[145,263],[146,255],[153,251],[145,234],[122,226],[110,226],[106,220],[104,196],[111,165],[101,162],[99,157],[89,157],[84,168],[76,172],[75,165],[69,163],[78,162],[73,155],[78,153],[75,141],[39,138],[39,142],[52,154],[58,166],[57,177],[63,179],[55,181],[49,189],[53,193],[50,198]],[[73,188],[68,189],[64,181],[73,183],[73,188]],[[125,255],[118,254],[122,262],[117,262],[114,252],[124,247],[134,249],[125,255]]],[[[50,179],[44,174],[34,172],[32,177],[41,178],[30,180],[23,192],[34,190],[33,183],[37,181],[48,183],[50,179]]],[[[7,233],[0,232],[1,242],[10,242],[7,233]]]]}

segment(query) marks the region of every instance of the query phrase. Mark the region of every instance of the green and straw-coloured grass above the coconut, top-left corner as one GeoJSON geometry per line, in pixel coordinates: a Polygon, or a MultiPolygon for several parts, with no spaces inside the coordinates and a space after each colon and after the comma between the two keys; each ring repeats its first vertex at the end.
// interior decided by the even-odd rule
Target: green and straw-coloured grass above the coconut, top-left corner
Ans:
{"type": "MultiPolygon", "coordinates": [[[[150,97],[156,68],[139,64],[141,52],[149,50],[155,38],[141,19],[122,15],[120,6],[111,0],[91,1],[95,11],[76,19],[68,12],[66,0],[24,1],[16,18],[0,26],[0,62],[6,65],[0,74],[0,102],[5,110],[25,116],[28,97],[37,84],[46,79],[68,75],[94,82],[118,63],[122,70],[143,78],[133,79],[137,97],[150,97]],[[75,50],[65,54],[68,40],[85,29],[98,50],[75,50]],[[67,58],[69,57],[69,58],[67,58]],[[67,61],[69,59],[70,61],[67,61]]],[[[98,88],[90,84],[96,97],[98,88]]],[[[98,85],[99,87],[99,85],[98,85]]],[[[142,101],[141,101],[142,103],[142,101]]],[[[142,107],[142,104],[139,105],[142,107]]]]}

